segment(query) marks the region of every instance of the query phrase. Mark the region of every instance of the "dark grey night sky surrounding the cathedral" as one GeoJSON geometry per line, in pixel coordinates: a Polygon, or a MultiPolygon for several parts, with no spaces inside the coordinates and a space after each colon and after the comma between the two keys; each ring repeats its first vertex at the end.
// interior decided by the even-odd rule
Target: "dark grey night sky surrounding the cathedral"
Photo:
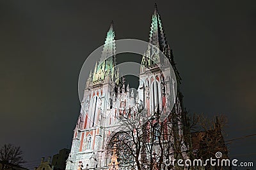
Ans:
{"type": "MultiPolygon", "coordinates": [[[[148,41],[156,2],[189,113],[226,115],[225,139],[256,134],[256,1],[0,1],[0,145],[20,146],[26,167],[70,148],[84,60],[111,20],[116,39],[148,41]]],[[[255,161],[255,143],[229,156],[255,161]]]]}

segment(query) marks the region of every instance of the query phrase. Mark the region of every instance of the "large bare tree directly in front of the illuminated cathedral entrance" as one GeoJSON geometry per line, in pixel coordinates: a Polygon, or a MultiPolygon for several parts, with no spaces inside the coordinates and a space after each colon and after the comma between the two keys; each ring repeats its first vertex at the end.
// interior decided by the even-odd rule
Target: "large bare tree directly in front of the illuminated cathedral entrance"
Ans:
{"type": "Polygon", "coordinates": [[[149,118],[145,115],[147,111],[140,107],[120,113],[118,119],[123,128],[111,136],[107,150],[111,151],[116,144],[120,166],[138,170],[171,169],[173,166],[166,166],[164,161],[170,157],[184,159],[188,155],[186,136],[190,132],[182,130],[180,116],[175,113],[163,122],[159,121],[159,108],[149,118]]]}

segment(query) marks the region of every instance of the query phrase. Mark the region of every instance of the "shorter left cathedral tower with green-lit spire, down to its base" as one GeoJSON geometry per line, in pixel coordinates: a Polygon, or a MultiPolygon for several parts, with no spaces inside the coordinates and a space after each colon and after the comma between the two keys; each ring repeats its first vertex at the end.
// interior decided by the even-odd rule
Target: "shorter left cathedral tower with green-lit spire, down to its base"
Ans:
{"type": "Polygon", "coordinates": [[[90,71],[86,81],[66,169],[79,166],[79,162],[88,168],[95,168],[101,161],[98,157],[104,143],[103,129],[109,126],[109,117],[106,115],[111,113],[111,100],[115,95],[117,81],[115,31],[111,22],[100,60],[95,63],[95,69],[90,71]]]}

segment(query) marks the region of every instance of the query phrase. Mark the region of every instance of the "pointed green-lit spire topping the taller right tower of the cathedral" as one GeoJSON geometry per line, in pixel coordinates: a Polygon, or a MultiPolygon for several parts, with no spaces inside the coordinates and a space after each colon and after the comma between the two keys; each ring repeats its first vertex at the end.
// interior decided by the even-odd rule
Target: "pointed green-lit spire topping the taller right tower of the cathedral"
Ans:
{"type": "Polygon", "coordinates": [[[149,43],[157,46],[161,51],[167,46],[166,38],[164,35],[164,29],[161,22],[161,17],[157,10],[157,4],[155,4],[155,10],[152,15],[152,23],[150,27],[149,43]]]}

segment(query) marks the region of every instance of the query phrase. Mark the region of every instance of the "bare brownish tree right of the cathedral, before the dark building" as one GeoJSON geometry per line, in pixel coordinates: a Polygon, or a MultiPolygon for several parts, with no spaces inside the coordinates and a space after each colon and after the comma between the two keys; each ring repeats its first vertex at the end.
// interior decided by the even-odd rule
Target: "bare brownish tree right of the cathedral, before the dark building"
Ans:
{"type": "MultiPolygon", "coordinates": [[[[197,115],[197,127],[192,133],[193,151],[196,159],[210,159],[221,152],[220,159],[228,158],[228,150],[223,139],[223,128],[227,125],[227,117],[220,115],[209,119],[204,115],[197,115]]],[[[222,167],[211,167],[207,169],[222,169],[222,167]]]]}

